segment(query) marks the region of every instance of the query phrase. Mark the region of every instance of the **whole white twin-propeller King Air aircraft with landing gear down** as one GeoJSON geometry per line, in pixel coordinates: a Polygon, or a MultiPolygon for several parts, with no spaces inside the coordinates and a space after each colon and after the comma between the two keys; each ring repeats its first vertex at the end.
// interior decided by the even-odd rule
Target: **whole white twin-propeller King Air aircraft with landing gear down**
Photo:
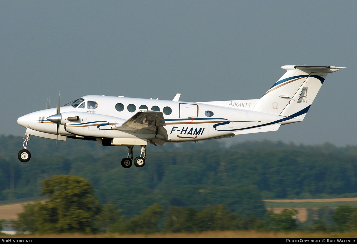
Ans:
{"type": "Polygon", "coordinates": [[[127,146],[124,168],[132,165],[134,145],[141,146],[134,159],[145,165],[147,143],[201,141],[240,134],[276,131],[280,125],[302,121],[328,73],[344,67],[285,65],[286,73],[261,99],[190,103],[124,96],[83,96],[57,108],[24,115],[17,123],[26,128],[18,158],[30,160],[30,135],[65,141],[96,140],[101,146],[127,146]]]}

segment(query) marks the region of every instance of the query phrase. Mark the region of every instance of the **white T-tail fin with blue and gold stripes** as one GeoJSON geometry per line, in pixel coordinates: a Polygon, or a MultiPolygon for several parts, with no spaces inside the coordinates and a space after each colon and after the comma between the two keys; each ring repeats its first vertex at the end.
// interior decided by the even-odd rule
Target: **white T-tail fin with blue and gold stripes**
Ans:
{"type": "Polygon", "coordinates": [[[286,73],[262,96],[254,111],[303,120],[328,73],[342,67],[285,65],[286,73]]]}

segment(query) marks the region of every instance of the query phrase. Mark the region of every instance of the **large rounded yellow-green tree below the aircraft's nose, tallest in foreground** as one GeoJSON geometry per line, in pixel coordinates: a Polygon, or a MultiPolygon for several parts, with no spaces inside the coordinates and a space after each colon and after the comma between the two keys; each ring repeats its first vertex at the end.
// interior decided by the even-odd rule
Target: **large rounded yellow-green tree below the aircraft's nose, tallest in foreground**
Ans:
{"type": "Polygon", "coordinates": [[[16,228],[34,232],[92,232],[99,210],[94,189],[83,178],[54,175],[42,182],[49,200],[28,204],[19,214],[16,228]]]}

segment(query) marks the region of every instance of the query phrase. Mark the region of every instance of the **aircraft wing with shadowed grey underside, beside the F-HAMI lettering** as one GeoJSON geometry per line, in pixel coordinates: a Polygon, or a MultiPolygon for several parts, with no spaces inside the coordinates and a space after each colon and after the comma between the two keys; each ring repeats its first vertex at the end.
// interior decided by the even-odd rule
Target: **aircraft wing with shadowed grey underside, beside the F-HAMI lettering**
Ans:
{"type": "Polygon", "coordinates": [[[165,120],[161,112],[140,110],[124,123],[113,125],[112,129],[157,134],[158,127],[164,125],[165,120]]]}

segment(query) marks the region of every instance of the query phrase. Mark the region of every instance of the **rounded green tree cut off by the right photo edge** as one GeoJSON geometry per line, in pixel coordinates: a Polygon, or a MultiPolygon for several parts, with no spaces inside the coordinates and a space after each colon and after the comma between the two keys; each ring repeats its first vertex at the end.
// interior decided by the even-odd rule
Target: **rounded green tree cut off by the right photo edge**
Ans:
{"type": "Polygon", "coordinates": [[[331,219],[336,223],[337,229],[340,231],[356,229],[357,208],[348,205],[338,206],[331,219]]]}

